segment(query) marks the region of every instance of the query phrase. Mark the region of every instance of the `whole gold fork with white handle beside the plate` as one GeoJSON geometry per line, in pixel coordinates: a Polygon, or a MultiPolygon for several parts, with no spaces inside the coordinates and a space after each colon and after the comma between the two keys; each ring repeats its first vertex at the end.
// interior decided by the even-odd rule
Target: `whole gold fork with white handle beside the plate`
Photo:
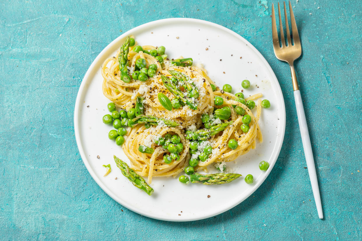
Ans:
{"type": "Polygon", "coordinates": [[[281,45],[279,44],[277,23],[275,22],[275,13],[274,13],[274,4],[271,5],[271,29],[273,33],[273,47],[274,53],[277,59],[281,61],[285,61],[290,66],[290,71],[292,74],[292,82],[293,82],[293,91],[294,91],[294,99],[295,99],[295,107],[296,113],[298,116],[300,135],[302,136],[302,143],[304,154],[306,156],[306,162],[308,167],[308,173],[312,184],[312,190],[314,195],[314,200],[316,202],[318,216],[320,219],[323,219],[323,210],[322,204],[320,201],[320,194],[318,188],[317,174],[313,159],[313,152],[311,146],[311,140],[309,138],[308,133],[308,125],[306,121],[306,115],[304,114],[302,97],[300,96],[298,81],[296,79],[295,69],[294,69],[294,60],[298,59],[302,54],[302,45],[300,44],[298,29],[296,28],[296,22],[294,18],[294,13],[292,10],[292,5],[289,1],[289,11],[290,11],[290,22],[292,25],[292,38],[293,43],[291,42],[291,36],[289,32],[288,18],[287,18],[287,9],[284,2],[284,17],[285,17],[285,27],[286,27],[286,36],[287,42],[285,42],[284,33],[283,33],[283,22],[282,16],[280,14],[280,6],[278,3],[278,12],[279,12],[279,25],[280,25],[280,39],[281,45]],[[287,45],[286,45],[287,43],[287,45]]]}

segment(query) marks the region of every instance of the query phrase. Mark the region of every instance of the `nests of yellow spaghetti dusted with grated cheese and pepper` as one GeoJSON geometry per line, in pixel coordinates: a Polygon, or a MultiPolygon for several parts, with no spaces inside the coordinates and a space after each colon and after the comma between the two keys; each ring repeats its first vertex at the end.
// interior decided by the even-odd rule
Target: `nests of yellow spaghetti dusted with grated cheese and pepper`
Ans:
{"type": "MultiPolygon", "coordinates": [[[[235,95],[219,90],[214,87],[215,83],[207,76],[206,70],[202,66],[173,66],[171,61],[164,59],[160,63],[156,57],[145,53],[150,50],[155,50],[154,46],[142,46],[143,51],[134,52],[132,47],[129,47],[127,55],[128,64],[127,70],[130,75],[137,71],[136,61],[144,59],[146,61],[146,68],[150,65],[156,65],[156,73],[154,76],[148,78],[145,82],[137,79],[131,79],[126,83],[121,80],[121,71],[119,69],[118,56],[110,57],[105,60],[102,65],[102,76],[104,78],[102,84],[103,94],[116,106],[130,111],[136,106],[136,101],[139,96],[143,99],[144,115],[157,117],[160,121],[156,126],[149,126],[145,124],[137,124],[134,127],[129,127],[127,131],[128,137],[122,146],[123,152],[131,161],[131,168],[141,176],[148,176],[148,182],[152,181],[152,177],[168,177],[176,176],[189,165],[190,159],[197,159],[201,154],[202,148],[211,146],[211,154],[205,161],[199,161],[194,167],[195,170],[203,169],[207,171],[207,166],[212,163],[230,162],[235,160],[238,156],[249,152],[256,147],[256,139],[262,142],[262,134],[258,125],[258,120],[261,115],[261,100],[256,105],[256,115],[243,103],[235,101],[235,95]],[[145,52],[144,52],[145,51],[145,52]],[[176,70],[188,77],[189,82],[192,82],[198,90],[198,97],[193,101],[197,105],[196,109],[190,108],[184,104],[180,108],[172,108],[171,111],[167,110],[163,104],[160,103],[157,94],[162,93],[170,100],[176,96],[172,93],[167,86],[165,86],[161,75],[167,78],[172,77],[169,70],[176,70]],[[214,91],[213,91],[214,88],[214,91]],[[223,104],[215,106],[214,97],[220,96],[223,99],[223,104]],[[235,106],[241,107],[245,110],[244,115],[251,117],[249,124],[249,131],[244,133],[241,130],[242,115],[238,115],[235,111],[235,106]],[[215,135],[211,135],[205,141],[199,141],[197,150],[190,149],[190,138],[187,137],[186,132],[196,132],[199,129],[205,128],[201,116],[204,114],[213,116],[214,109],[229,107],[231,111],[230,118],[224,122],[231,122],[223,131],[215,135]],[[162,120],[171,120],[177,123],[175,126],[167,126],[162,120]],[[164,138],[166,134],[176,135],[179,137],[179,143],[182,144],[182,150],[177,152],[177,158],[172,159],[171,163],[165,162],[165,155],[171,154],[167,146],[156,144],[160,138],[164,138]],[[228,141],[235,139],[237,141],[236,149],[228,147],[228,141]],[[153,150],[152,153],[143,153],[140,151],[141,146],[149,147],[153,150]]],[[[186,90],[179,85],[180,91],[186,90]]],[[[253,100],[260,98],[262,95],[254,95],[246,98],[245,100],[253,100]]],[[[223,123],[222,121],[219,121],[223,123]]],[[[172,143],[171,143],[172,144],[172,143]]],[[[173,145],[173,144],[172,144],[173,145]]],[[[180,144],[178,144],[181,146],[180,144]]]]}

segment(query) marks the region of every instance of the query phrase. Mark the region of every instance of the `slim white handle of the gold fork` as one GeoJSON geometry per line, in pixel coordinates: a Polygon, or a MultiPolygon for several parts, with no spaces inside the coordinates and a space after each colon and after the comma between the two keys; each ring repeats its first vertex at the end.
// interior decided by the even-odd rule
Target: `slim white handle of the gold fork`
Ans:
{"type": "Polygon", "coordinates": [[[316,168],[313,159],[311,140],[309,138],[306,115],[304,114],[302,97],[300,96],[299,90],[294,91],[294,99],[295,99],[296,113],[298,115],[300,135],[302,135],[304,154],[306,155],[309,178],[311,179],[311,184],[312,184],[314,200],[316,202],[318,216],[320,219],[323,219],[322,203],[320,201],[320,194],[318,188],[316,168]]]}

